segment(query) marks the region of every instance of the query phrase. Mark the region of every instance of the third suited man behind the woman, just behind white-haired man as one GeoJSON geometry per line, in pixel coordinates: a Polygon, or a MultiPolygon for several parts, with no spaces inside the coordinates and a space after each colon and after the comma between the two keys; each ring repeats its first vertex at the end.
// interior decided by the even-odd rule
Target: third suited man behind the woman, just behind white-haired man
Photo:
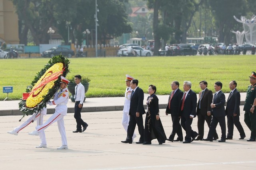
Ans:
{"type": "MultiPolygon", "coordinates": [[[[208,127],[210,128],[212,120],[211,103],[213,95],[212,90],[208,90],[207,85],[208,83],[206,81],[201,81],[199,83],[199,86],[202,89],[202,91],[199,92],[199,100],[196,109],[198,137],[195,139],[195,141],[202,141],[204,139],[204,121],[206,121],[208,127]]],[[[214,132],[213,139],[218,139],[218,134],[216,133],[216,130],[214,132]]]]}

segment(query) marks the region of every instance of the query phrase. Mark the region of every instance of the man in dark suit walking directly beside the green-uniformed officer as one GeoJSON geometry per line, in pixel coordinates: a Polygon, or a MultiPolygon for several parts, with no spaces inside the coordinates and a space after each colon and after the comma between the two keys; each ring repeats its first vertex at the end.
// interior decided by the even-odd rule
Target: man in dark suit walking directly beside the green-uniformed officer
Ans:
{"type": "Polygon", "coordinates": [[[240,139],[245,138],[244,129],[239,121],[240,116],[240,93],[236,90],[236,81],[233,80],[229,83],[231,90],[226,106],[226,115],[228,119],[228,135],[226,139],[233,139],[234,125],[240,133],[240,139]]]}

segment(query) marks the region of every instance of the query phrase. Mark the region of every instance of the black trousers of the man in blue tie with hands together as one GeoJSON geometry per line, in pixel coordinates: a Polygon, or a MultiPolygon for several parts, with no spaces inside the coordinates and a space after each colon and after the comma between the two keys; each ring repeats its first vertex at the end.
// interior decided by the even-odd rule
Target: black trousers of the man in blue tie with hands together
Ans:
{"type": "Polygon", "coordinates": [[[211,125],[210,125],[210,129],[209,129],[209,133],[207,138],[208,139],[212,139],[213,134],[214,134],[214,130],[216,131],[216,127],[218,125],[218,123],[220,123],[220,128],[221,128],[221,139],[222,140],[226,140],[226,116],[222,116],[222,117],[215,117],[212,116],[212,121],[211,121],[211,125]]]}

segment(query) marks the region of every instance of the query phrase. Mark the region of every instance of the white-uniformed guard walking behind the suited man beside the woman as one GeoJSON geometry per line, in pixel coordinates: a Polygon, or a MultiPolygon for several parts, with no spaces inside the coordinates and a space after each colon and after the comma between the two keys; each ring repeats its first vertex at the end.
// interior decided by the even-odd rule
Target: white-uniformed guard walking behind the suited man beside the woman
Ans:
{"type": "MultiPolygon", "coordinates": [[[[128,129],[128,124],[129,124],[129,120],[130,120],[130,116],[129,116],[129,110],[130,110],[130,102],[131,102],[131,94],[132,94],[132,88],[130,87],[130,82],[131,80],[134,79],[132,76],[126,74],[126,91],[124,94],[124,109],[123,109],[123,117],[122,117],[122,125],[127,133],[127,129],[128,129]]],[[[132,136],[132,140],[136,138],[136,134],[134,133],[132,136]]]]}

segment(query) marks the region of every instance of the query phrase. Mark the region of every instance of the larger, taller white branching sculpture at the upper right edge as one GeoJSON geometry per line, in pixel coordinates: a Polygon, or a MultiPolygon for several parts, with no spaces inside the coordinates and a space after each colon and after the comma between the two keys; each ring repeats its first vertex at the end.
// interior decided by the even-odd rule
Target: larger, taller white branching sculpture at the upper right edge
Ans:
{"type": "Polygon", "coordinates": [[[234,16],[234,19],[243,24],[245,39],[247,43],[255,44],[256,43],[256,16],[253,15],[252,18],[249,20],[244,16],[241,16],[241,20],[234,16]]]}

